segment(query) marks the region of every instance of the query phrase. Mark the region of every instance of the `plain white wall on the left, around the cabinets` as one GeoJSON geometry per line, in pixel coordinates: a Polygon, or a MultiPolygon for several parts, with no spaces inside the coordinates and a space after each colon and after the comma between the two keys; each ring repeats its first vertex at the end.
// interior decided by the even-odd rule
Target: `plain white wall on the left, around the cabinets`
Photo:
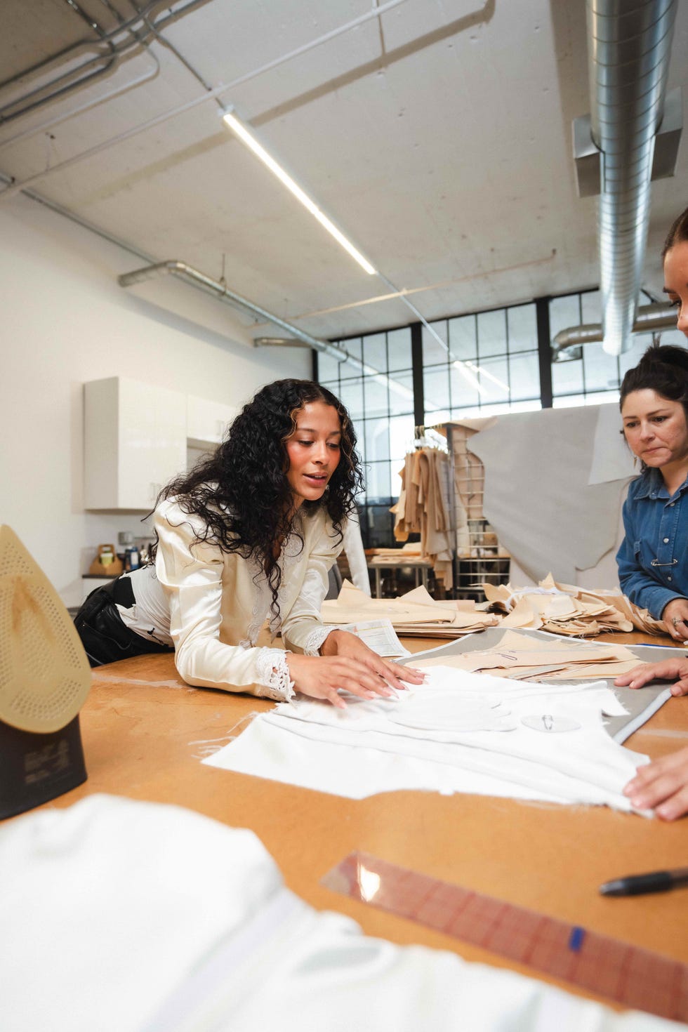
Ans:
{"type": "Polygon", "coordinates": [[[144,533],[139,516],[84,510],[87,380],[126,376],[237,406],[271,380],[312,375],[307,350],[250,348],[231,310],[191,287],[175,291],[174,313],[127,293],[118,275],[142,264],[27,198],[0,207],[0,522],[66,605],[80,602],[98,544],[144,533]]]}

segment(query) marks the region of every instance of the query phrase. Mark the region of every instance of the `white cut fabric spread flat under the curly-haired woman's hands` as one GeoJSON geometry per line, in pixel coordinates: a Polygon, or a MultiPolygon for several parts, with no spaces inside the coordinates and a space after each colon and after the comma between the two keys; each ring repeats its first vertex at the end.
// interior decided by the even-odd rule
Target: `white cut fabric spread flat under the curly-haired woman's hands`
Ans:
{"type": "Polygon", "coordinates": [[[203,763],[349,799],[417,788],[631,810],[622,789],[648,757],[604,731],[602,714],[625,710],[603,681],[554,687],[449,667],[432,667],[428,675],[407,702],[405,692],[393,701],[347,697],[347,709],[338,710],[297,698],[257,716],[203,763]],[[425,727],[399,722],[424,696],[425,727]],[[461,699],[466,730],[455,730],[461,699]],[[431,714],[434,730],[428,730],[431,714]],[[545,714],[581,727],[557,734],[522,722],[545,714]]]}

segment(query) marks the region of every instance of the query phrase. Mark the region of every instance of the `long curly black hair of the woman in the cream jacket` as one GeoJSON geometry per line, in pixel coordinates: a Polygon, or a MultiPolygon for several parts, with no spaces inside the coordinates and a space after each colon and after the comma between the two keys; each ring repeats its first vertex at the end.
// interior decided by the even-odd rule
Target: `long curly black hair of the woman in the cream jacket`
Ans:
{"type": "MultiPolygon", "coordinates": [[[[356,432],[341,401],[312,380],[275,380],[259,390],[230,424],[215,454],[175,477],[156,501],[158,505],[163,498],[177,496],[184,512],[203,520],[205,529],[197,541],[208,541],[223,552],[239,552],[254,559],[265,571],[275,615],[282,580],[280,550],[290,534],[298,534],[287,479],[286,442],[296,429],[298,413],[309,401],[324,401],[336,410],[341,426],[340,457],[323,497],[304,501],[302,509],[325,508],[340,540],[342,521],[363,487],[356,432]]],[[[151,562],[157,547],[156,535],[151,562]]]]}

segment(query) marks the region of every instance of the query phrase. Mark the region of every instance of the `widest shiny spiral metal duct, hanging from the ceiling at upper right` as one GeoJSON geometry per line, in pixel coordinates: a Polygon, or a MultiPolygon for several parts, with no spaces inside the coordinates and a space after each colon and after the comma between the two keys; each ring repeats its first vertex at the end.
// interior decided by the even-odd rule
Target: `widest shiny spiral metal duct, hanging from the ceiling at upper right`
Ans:
{"type": "Polygon", "coordinates": [[[603,347],[630,347],[677,0],[587,0],[592,139],[600,151],[603,347]]]}

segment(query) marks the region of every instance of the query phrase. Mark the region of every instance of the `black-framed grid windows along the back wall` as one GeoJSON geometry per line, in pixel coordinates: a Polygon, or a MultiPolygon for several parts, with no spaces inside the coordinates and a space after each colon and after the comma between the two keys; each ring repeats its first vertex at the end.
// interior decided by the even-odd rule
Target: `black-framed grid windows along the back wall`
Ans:
{"type": "MultiPolygon", "coordinates": [[[[359,504],[366,548],[394,544],[389,509],[417,423],[617,400],[624,373],[652,334],[634,335],[618,357],[586,344],[572,359],[552,361],[559,330],[598,322],[599,291],[590,289],[439,319],[430,330],[416,323],[334,341],[349,356],[341,361],[314,352],[314,376],[341,398],[356,427],[366,476],[359,504]]],[[[661,340],[686,346],[678,330],[662,331],[661,340]]]]}

